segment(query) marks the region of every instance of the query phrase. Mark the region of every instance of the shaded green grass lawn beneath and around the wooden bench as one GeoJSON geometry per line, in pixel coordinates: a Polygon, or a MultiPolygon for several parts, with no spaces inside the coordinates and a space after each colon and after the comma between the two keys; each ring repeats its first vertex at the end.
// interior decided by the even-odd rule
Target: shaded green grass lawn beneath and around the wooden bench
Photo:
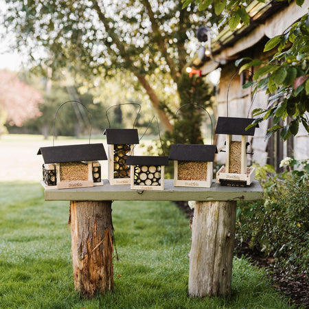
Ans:
{"type": "Polygon", "coordinates": [[[188,297],[191,231],[170,202],[113,203],[115,289],[80,298],[69,203],[45,202],[39,180],[0,180],[0,308],[290,308],[262,271],[238,258],[230,297],[188,297]]]}

